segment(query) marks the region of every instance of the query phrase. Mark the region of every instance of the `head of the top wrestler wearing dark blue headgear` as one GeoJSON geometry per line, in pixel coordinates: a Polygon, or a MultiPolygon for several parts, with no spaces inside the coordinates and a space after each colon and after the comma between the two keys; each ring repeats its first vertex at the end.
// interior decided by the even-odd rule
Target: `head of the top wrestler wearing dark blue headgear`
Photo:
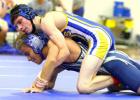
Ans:
{"type": "Polygon", "coordinates": [[[35,10],[25,4],[16,5],[10,12],[11,22],[17,31],[31,33],[35,30],[33,19],[37,16],[35,10]]]}

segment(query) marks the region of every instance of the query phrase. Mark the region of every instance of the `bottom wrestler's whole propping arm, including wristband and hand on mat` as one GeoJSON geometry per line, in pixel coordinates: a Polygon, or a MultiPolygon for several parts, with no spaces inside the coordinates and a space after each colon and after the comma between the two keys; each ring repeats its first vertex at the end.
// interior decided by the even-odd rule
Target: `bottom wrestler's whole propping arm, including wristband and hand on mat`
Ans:
{"type": "Polygon", "coordinates": [[[56,71],[56,57],[59,50],[52,41],[48,42],[47,47],[47,57],[40,73],[37,75],[37,78],[33,82],[32,87],[24,89],[24,92],[42,92],[44,89],[49,89],[53,87],[58,72],[56,71]]]}

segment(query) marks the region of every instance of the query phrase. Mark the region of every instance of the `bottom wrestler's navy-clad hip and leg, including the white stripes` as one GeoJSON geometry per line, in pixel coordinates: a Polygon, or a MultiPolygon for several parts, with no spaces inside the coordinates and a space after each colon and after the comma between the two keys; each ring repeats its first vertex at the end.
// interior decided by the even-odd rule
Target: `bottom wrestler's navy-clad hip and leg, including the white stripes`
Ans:
{"type": "Polygon", "coordinates": [[[137,92],[140,87],[140,64],[121,51],[110,51],[102,65],[127,89],[137,92]]]}

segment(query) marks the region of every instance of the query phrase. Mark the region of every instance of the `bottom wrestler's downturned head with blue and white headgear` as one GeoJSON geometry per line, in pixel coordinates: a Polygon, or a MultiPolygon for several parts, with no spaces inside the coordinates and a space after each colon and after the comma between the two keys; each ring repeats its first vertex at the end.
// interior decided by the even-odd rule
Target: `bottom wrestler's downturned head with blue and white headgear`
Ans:
{"type": "Polygon", "coordinates": [[[42,50],[47,42],[48,40],[34,34],[20,34],[15,41],[15,47],[21,50],[29,61],[40,64],[45,59],[42,50]]]}

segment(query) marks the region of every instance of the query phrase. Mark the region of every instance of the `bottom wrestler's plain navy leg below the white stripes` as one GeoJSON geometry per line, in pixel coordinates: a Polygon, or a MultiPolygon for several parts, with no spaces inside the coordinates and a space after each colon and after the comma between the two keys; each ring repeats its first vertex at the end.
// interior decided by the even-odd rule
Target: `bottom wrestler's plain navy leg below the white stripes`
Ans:
{"type": "Polygon", "coordinates": [[[104,67],[116,77],[126,88],[139,92],[140,70],[132,63],[112,60],[104,64],[104,67]]]}

